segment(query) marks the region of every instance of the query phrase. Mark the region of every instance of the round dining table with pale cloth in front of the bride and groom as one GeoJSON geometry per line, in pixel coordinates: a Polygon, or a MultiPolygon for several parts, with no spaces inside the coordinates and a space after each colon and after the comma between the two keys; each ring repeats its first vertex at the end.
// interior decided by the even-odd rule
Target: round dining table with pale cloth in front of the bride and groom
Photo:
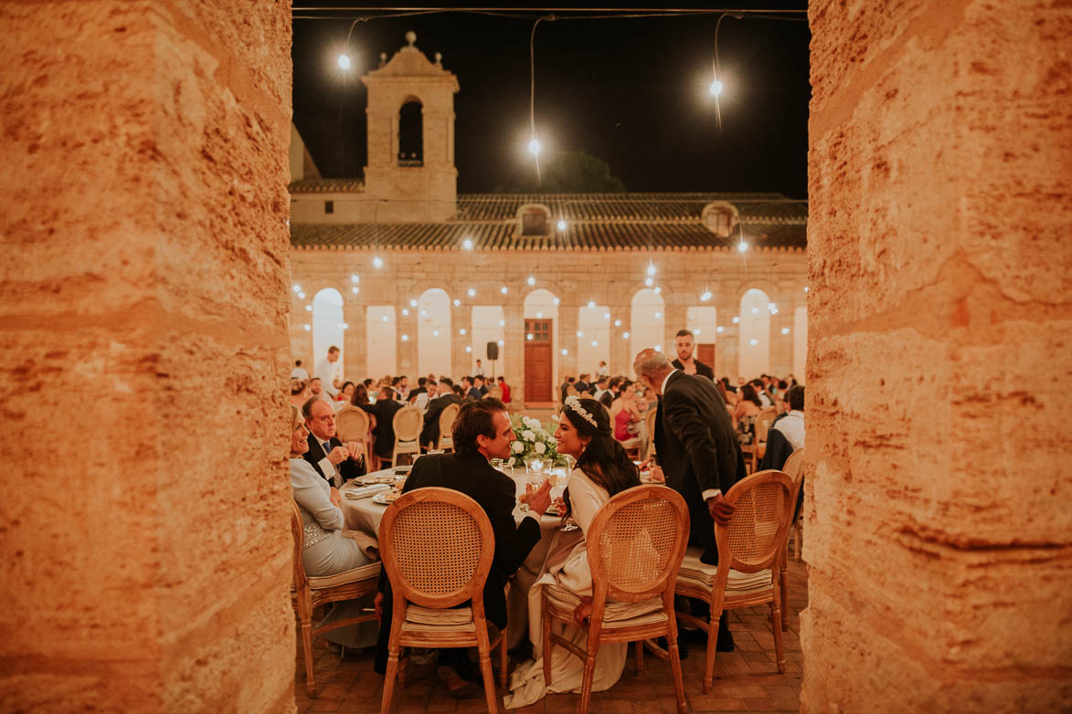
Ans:
{"type": "MultiPolygon", "coordinates": [[[[520,496],[525,490],[525,483],[527,481],[527,474],[523,471],[516,471],[510,473],[505,471],[507,476],[513,480],[515,493],[520,496]]],[[[361,477],[361,482],[364,484],[371,484],[377,481],[381,482],[391,482],[393,483],[397,474],[394,469],[384,469],[382,471],[373,471],[361,477]]],[[[368,489],[363,484],[356,483],[357,480],[347,483],[341,489],[342,492],[342,513],[346,521],[346,529],[352,531],[361,531],[368,533],[373,537],[378,537],[379,533],[379,522],[384,519],[384,514],[387,512],[387,505],[382,503],[376,503],[372,496],[371,489],[368,489]],[[347,493],[356,495],[356,492],[366,492],[368,496],[362,498],[351,498],[347,493]]],[[[386,492],[387,488],[381,487],[376,492],[386,492]]],[[[521,504],[516,503],[513,507],[513,519],[517,522],[521,522],[521,519],[527,516],[528,513],[521,510],[521,504]]],[[[540,517],[540,540],[533,549],[528,552],[528,557],[525,559],[524,563],[521,565],[521,571],[525,571],[522,575],[519,572],[518,577],[512,579],[520,580],[523,582],[533,582],[538,576],[539,572],[544,568],[544,561],[547,559],[548,549],[551,546],[551,542],[554,540],[554,534],[562,528],[563,519],[561,516],[551,516],[545,514],[540,517]]],[[[521,640],[528,634],[528,593],[520,592],[521,588],[511,587],[507,592],[507,633],[506,641],[507,647],[512,648],[517,645],[521,640]]]]}

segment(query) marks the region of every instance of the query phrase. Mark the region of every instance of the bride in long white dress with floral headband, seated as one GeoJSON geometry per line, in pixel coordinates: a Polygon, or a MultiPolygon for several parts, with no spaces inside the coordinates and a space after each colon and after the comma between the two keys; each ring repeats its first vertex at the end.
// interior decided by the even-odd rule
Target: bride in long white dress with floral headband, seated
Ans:
{"type": "MultiPolygon", "coordinates": [[[[592,611],[592,573],[589,569],[584,537],[599,506],[616,493],[640,485],[637,467],[612,434],[610,415],[595,399],[566,398],[559,419],[554,438],[560,454],[577,459],[577,467],[569,474],[563,493],[566,516],[572,516],[579,530],[557,531],[548,549],[547,559],[532,589],[528,591],[528,633],[533,642],[535,662],[520,665],[510,679],[510,694],[504,703],[507,709],[526,707],[542,699],[549,692],[580,689],[584,663],[565,648],[553,648],[550,687],[544,682],[541,652],[540,598],[542,588],[555,584],[576,595],[578,601],[575,619],[583,622],[592,611]]],[[[581,649],[585,647],[585,633],[580,627],[555,623],[552,632],[569,639],[581,649]]],[[[617,682],[625,667],[628,645],[625,642],[599,647],[592,690],[602,692],[617,682]]]]}

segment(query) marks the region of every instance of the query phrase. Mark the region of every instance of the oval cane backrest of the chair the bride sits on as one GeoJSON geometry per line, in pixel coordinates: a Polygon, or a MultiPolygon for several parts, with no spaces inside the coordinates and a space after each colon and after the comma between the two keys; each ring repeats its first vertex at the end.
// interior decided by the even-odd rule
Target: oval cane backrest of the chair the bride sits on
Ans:
{"type": "Polygon", "coordinates": [[[688,522],[685,499],[657,484],[629,488],[605,503],[586,538],[595,597],[637,602],[672,589],[688,522]]]}

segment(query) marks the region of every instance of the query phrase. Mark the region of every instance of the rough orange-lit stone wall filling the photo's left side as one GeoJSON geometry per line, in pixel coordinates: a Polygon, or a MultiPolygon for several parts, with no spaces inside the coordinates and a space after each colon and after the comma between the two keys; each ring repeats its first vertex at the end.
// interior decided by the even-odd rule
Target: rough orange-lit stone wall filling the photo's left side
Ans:
{"type": "Polygon", "coordinates": [[[292,711],[289,3],[0,26],[0,710],[292,711]]]}

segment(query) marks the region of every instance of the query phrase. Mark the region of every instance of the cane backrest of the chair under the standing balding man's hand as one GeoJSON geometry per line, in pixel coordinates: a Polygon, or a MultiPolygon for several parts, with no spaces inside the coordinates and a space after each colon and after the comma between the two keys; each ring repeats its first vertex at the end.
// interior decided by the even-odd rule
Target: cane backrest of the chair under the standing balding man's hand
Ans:
{"type": "Polygon", "coordinates": [[[715,523],[719,577],[729,574],[724,564],[742,573],[771,567],[789,536],[793,488],[784,472],[768,469],[742,478],[729,490],[726,500],[735,507],[733,516],[726,526],[715,523]]]}

